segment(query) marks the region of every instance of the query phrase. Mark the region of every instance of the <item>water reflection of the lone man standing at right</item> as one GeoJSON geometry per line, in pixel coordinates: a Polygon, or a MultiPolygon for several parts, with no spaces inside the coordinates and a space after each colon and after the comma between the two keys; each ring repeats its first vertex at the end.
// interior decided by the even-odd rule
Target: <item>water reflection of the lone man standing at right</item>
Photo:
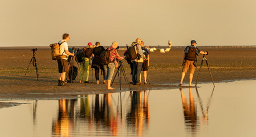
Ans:
{"type": "Polygon", "coordinates": [[[186,103],[186,98],[182,92],[182,88],[180,88],[180,91],[181,91],[181,99],[182,99],[185,125],[191,126],[192,131],[195,131],[197,115],[196,115],[196,111],[195,111],[195,101],[193,100],[192,87],[189,87],[189,104],[186,103]]]}

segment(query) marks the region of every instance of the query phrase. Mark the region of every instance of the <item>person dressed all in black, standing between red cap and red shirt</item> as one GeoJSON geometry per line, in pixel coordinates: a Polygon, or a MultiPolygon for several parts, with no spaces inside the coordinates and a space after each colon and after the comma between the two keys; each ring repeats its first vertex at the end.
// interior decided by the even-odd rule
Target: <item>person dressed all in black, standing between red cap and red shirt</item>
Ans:
{"type": "MultiPolygon", "coordinates": [[[[103,64],[100,62],[100,54],[105,50],[103,46],[100,46],[100,42],[95,43],[96,47],[93,49],[93,63],[92,68],[95,69],[95,77],[97,80],[97,84],[99,84],[99,76],[98,73],[100,69],[103,69],[103,64]]],[[[103,77],[105,77],[105,72],[103,71],[103,77]]]]}

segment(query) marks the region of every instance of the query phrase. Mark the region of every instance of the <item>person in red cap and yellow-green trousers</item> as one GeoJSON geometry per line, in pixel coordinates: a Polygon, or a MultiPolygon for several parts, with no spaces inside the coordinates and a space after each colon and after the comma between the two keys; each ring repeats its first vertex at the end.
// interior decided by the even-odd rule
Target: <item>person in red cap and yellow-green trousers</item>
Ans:
{"type": "Polygon", "coordinates": [[[93,54],[93,43],[89,42],[87,47],[83,49],[85,51],[85,55],[83,57],[83,61],[80,63],[81,66],[81,77],[80,77],[80,83],[82,83],[83,75],[85,74],[85,83],[90,83],[88,81],[89,78],[89,70],[90,70],[90,61],[89,58],[92,57],[93,54]]]}

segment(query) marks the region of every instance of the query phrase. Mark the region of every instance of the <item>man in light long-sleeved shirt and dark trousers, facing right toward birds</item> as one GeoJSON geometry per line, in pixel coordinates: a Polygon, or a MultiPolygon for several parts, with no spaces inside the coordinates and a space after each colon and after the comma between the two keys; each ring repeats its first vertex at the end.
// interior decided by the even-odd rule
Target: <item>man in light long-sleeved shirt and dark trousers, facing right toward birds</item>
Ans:
{"type": "Polygon", "coordinates": [[[142,62],[143,62],[143,53],[142,53],[142,49],[141,49],[141,39],[137,38],[136,39],[136,49],[137,49],[137,53],[138,53],[138,57],[133,60],[133,84],[134,85],[142,85],[140,82],[140,73],[141,73],[141,68],[142,68],[142,62]]]}

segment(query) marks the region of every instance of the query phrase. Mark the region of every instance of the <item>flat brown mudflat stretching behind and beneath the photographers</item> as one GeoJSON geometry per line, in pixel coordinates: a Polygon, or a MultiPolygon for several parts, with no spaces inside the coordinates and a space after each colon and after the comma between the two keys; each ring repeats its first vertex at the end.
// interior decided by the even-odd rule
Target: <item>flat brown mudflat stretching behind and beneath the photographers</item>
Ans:
{"type": "MultiPolygon", "coordinates": [[[[107,47],[107,46],[104,46],[107,47]]],[[[0,47],[1,54],[1,69],[0,69],[0,98],[33,98],[47,96],[47,94],[84,94],[97,92],[116,92],[120,89],[118,77],[114,81],[112,87],[116,91],[105,90],[103,84],[103,76],[100,75],[100,84],[96,84],[94,71],[91,69],[89,74],[90,84],[79,83],[79,75],[76,77],[72,86],[59,87],[57,86],[57,61],[52,60],[50,47],[37,47],[35,57],[39,72],[39,81],[36,79],[35,67],[28,65],[32,58],[32,51],[35,47],[0,47]]],[[[161,48],[161,47],[159,47],[161,48]]],[[[166,47],[165,47],[166,48],[166,47]]],[[[207,61],[214,82],[229,82],[231,80],[244,80],[256,78],[256,46],[211,46],[200,47],[202,51],[209,51],[206,55],[207,61]]],[[[151,52],[148,76],[150,83],[143,86],[130,85],[131,90],[149,90],[162,88],[179,88],[182,61],[185,47],[171,47],[171,50],[166,53],[160,53],[159,49],[151,52]]],[[[120,55],[123,55],[125,50],[118,50],[120,55]]],[[[198,68],[193,75],[193,84],[198,77],[199,66],[203,55],[198,56],[198,68]]],[[[76,62],[74,63],[76,66],[76,62]]],[[[127,79],[130,79],[130,66],[126,61],[123,61],[127,79]]],[[[115,69],[115,73],[116,74],[115,69]]],[[[188,74],[184,78],[184,86],[188,86],[188,74]]],[[[142,83],[143,83],[142,76],[142,83]]],[[[207,69],[206,62],[203,62],[203,67],[200,72],[200,83],[211,83],[211,77],[207,69]]],[[[71,83],[68,83],[71,84],[71,83]]],[[[130,90],[129,85],[125,83],[122,76],[122,90],[130,90]]]]}

